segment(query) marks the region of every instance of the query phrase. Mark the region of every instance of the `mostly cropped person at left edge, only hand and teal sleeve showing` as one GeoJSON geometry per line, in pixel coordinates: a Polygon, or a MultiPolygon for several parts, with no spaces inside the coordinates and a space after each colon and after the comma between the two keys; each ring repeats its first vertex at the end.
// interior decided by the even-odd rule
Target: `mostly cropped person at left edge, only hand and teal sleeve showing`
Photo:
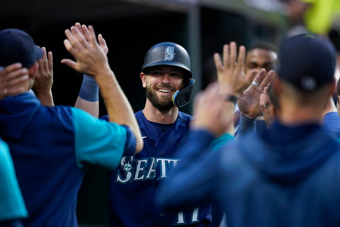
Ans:
{"type": "MultiPolygon", "coordinates": [[[[17,95],[24,91],[29,80],[28,70],[21,63],[15,63],[0,71],[0,100],[6,96],[17,95]]],[[[0,226],[20,227],[19,219],[28,213],[15,176],[12,157],[7,144],[0,138],[0,226]]]]}

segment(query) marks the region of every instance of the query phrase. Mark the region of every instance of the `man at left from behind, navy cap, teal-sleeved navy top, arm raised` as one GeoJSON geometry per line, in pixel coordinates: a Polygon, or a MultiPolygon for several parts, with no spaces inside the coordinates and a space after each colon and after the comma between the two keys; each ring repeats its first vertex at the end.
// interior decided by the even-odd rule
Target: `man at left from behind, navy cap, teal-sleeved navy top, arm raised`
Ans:
{"type": "MultiPolygon", "coordinates": [[[[71,28],[74,29],[73,27],[71,28]]],[[[66,30],[66,49],[77,62],[63,63],[95,78],[111,121],[100,121],[82,110],[45,107],[28,93],[38,63],[52,68],[45,48],[35,46],[26,32],[0,31],[0,65],[20,62],[28,68],[24,92],[0,101],[0,136],[7,142],[29,217],[24,226],[77,226],[77,193],[88,165],[115,169],[123,155],[142,149],[143,141],[132,108],[97,43],[92,27],[90,42],[82,33],[66,30]],[[13,49],[15,47],[15,49],[13,49]]],[[[52,57],[52,55],[50,55],[52,57]]]]}

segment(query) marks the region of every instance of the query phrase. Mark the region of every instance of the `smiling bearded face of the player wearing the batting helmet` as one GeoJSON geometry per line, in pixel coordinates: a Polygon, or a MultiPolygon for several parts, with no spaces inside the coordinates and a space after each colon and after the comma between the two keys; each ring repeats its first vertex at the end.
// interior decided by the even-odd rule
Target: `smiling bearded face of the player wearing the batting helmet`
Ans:
{"type": "Polygon", "coordinates": [[[158,110],[166,111],[174,107],[172,95],[183,88],[184,74],[176,66],[155,66],[151,68],[145,80],[142,77],[146,96],[158,110]]]}

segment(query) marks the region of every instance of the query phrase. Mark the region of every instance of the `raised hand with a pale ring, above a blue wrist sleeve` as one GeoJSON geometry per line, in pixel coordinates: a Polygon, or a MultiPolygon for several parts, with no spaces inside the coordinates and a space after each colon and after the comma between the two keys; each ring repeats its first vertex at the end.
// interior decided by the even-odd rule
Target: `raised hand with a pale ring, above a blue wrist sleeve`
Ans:
{"type": "Polygon", "coordinates": [[[253,119],[261,114],[260,95],[263,93],[263,88],[268,86],[275,74],[273,70],[269,71],[267,75],[265,72],[265,69],[261,69],[254,78],[253,83],[237,99],[240,112],[253,119]]]}

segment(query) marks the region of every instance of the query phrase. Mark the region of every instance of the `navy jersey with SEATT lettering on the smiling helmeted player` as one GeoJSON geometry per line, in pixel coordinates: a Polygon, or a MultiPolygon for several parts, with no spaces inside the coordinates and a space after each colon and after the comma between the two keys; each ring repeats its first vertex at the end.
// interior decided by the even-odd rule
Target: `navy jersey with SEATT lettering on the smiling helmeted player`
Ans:
{"type": "Polygon", "coordinates": [[[143,111],[135,116],[144,148],[135,156],[124,156],[117,170],[109,175],[110,226],[209,225],[210,204],[173,213],[155,205],[157,189],[180,162],[178,151],[187,141],[191,116],[179,112],[176,121],[168,126],[148,121],[143,111]]]}

